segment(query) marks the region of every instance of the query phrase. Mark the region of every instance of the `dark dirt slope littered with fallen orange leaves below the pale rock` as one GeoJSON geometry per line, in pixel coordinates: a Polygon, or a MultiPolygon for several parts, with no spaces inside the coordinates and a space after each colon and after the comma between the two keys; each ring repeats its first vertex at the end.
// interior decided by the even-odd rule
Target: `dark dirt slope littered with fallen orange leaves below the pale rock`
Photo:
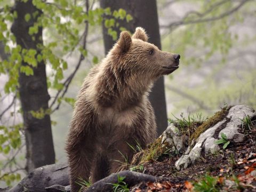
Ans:
{"type": "Polygon", "coordinates": [[[245,142],[230,142],[226,149],[203,155],[188,169],[175,169],[180,155],[164,154],[144,164],[143,173],[166,180],[140,183],[130,191],[256,191],[256,121],[250,128],[245,142]]]}

